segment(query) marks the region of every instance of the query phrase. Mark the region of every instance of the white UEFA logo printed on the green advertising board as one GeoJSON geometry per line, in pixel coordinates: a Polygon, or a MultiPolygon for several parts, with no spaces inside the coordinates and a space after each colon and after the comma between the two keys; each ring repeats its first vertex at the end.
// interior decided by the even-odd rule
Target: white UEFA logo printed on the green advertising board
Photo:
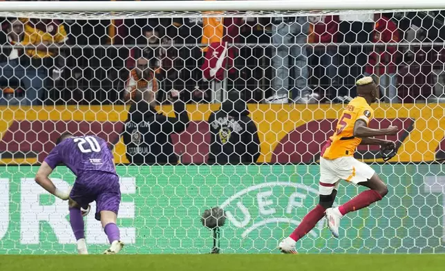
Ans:
{"type": "MultiPolygon", "coordinates": [[[[299,225],[301,221],[294,216],[295,212],[293,212],[293,210],[301,207],[307,208],[305,207],[304,200],[307,198],[307,194],[310,193],[313,194],[312,197],[318,196],[317,189],[300,183],[262,183],[238,191],[236,194],[225,200],[225,202],[220,205],[220,208],[225,209],[225,214],[231,224],[235,227],[245,228],[244,232],[241,234],[241,237],[245,238],[254,230],[267,226],[267,224],[276,225],[277,223],[287,223],[296,226],[299,225]],[[283,189],[279,189],[279,193],[277,191],[274,194],[274,187],[282,187],[283,189]],[[285,196],[287,200],[286,204],[279,204],[278,200],[283,199],[283,196],[285,195],[283,193],[285,188],[292,189],[294,192],[290,194],[290,196],[285,196]],[[252,198],[252,192],[256,192],[256,201],[252,202],[252,200],[248,200],[248,202],[252,202],[252,205],[246,207],[243,204],[243,197],[249,195],[249,198],[252,198]],[[258,208],[258,216],[252,217],[251,212],[256,211],[256,208],[258,208]],[[242,216],[240,216],[240,214],[242,214],[242,216]],[[289,217],[283,216],[283,214],[288,214],[289,217]]],[[[312,198],[310,198],[310,201],[310,205],[312,206],[312,198]]],[[[323,229],[323,223],[324,218],[317,224],[319,230],[323,229]]],[[[314,230],[309,234],[314,237],[317,236],[314,230]]]]}

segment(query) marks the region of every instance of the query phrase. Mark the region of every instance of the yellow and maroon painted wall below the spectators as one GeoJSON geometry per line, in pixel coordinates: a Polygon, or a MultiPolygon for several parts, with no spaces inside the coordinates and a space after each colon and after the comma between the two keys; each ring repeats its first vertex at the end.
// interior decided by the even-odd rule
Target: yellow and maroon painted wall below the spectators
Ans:
{"type": "MultiPolygon", "coordinates": [[[[173,135],[176,153],[184,164],[200,164],[209,152],[211,111],[219,104],[188,105],[191,123],[184,133],[173,135]]],[[[375,104],[372,127],[397,125],[399,141],[393,162],[428,162],[445,158],[444,108],[437,104],[375,104]]],[[[115,162],[128,163],[120,138],[128,115],[125,106],[46,106],[45,110],[2,108],[0,120],[0,163],[33,165],[41,162],[60,133],[94,133],[114,145],[115,162]]],[[[158,110],[173,115],[171,106],[158,110]]],[[[258,162],[311,163],[318,159],[321,145],[332,134],[343,110],[341,104],[267,105],[250,104],[251,117],[258,127],[261,156],[258,162]]],[[[377,147],[359,147],[360,158],[374,162],[377,147]]],[[[378,157],[378,156],[377,156],[378,157]]],[[[381,162],[381,160],[377,160],[381,162]]]]}

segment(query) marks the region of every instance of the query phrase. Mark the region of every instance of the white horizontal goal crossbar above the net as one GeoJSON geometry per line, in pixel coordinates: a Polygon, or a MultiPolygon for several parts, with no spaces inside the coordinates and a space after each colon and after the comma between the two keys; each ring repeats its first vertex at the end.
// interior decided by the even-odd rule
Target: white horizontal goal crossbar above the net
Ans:
{"type": "Polygon", "coordinates": [[[1,1],[0,12],[199,12],[288,10],[416,10],[445,8],[444,0],[291,1],[1,1]]]}

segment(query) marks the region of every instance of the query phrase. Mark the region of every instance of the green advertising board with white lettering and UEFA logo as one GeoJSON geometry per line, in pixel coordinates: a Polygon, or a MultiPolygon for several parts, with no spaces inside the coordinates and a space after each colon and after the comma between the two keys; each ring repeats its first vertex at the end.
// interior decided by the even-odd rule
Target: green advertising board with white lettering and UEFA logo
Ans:
{"type": "MultiPolygon", "coordinates": [[[[334,239],[321,221],[299,242],[300,253],[445,252],[444,165],[373,167],[385,176],[388,196],[343,218],[341,239],[334,239]]],[[[67,203],[34,182],[37,167],[3,169],[0,254],[75,253],[67,203]]],[[[316,165],[119,166],[117,173],[122,184],[118,223],[127,254],[208,253],[211,232],[200,214],[217,205],[228,218],[221,232],[223,253],[278,253],[278,240],[318,201],[316,165]]],[[[53,181],[66,189],[74,176],[58,167],[53,181]]],[[[359,190],[342,183],[337,203],[359,190]]],[[[91,253],[106,248],[93,214],[86,218],[86,239],[91,253]]]]}

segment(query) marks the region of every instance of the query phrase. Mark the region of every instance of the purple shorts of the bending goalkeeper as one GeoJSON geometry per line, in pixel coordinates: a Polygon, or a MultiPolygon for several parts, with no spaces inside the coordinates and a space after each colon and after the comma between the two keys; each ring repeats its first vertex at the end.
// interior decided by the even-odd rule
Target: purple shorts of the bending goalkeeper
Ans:
{"type": "Polygon", "coordinates": [[[95,218],[98,221],[101,211],[111,211],[117,215],[120,204],[119,177],[107,172],[85,171],[77,177],[70,198],[83,208],[95,201],[95,218]]]}

